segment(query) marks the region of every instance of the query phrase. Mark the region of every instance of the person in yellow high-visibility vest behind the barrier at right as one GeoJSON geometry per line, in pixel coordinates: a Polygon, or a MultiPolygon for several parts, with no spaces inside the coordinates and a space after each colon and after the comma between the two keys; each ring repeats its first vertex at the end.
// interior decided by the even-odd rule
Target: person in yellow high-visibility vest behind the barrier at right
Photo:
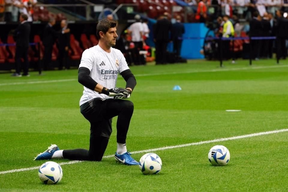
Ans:
{"type": "MultiPolygon", "coordinates": [[[[232,22],[229,20],[229,15],[225,15],[223,16],[223,21],[225,22],[223,25],[223,36],[225,38],[230,38],[230,37],[234,37],[234,27],[232,22]]],[[[223,45],[223,53],[225,53],[225,57],[223,58],[230,58],[231,56],[231,52],[230,52],[230,41],[223,41],[222,43],[223,45]]],[[[233,58],[234,59],[234,58],[233,58]]],[[[234,63],[234,60],[232,61],[234,63]]]]}

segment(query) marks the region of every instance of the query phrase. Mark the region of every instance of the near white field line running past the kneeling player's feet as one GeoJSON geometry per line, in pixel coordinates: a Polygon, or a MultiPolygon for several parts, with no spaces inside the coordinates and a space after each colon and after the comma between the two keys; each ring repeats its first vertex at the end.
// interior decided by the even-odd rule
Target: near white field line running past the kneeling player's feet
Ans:
{"type": "MultiPolygon", "coordinates": [[[[187,143],[187,144],[182,144],[182,145],[160,147],[160,148],[155,148],[155,149],[146,149],[146,150],[135,151],[135,152],[131,152],[131,153],[132,154],[138,154],[138,153],[148,153],[148,152],[154,152],[154,151],[163,151],[163,150],[167,150],[167,149],[175,149],[175,148],[181,148],[181,147],[202,145],[202,144],[207,144],[207,143],[215,143],[215,142],[243,139],[243,138],[248,138],[248,137],[256,137],[256,136],[260,136],[260,135],[269,135],[269,134],[282,133],[282,132],[287,132],[287,131],[288,131],[288,129],[280,129],[280,130],[275,130],[275,131],[266,131],[266,132],[248,134],[248,135],[240,135],[240,136],[235,136],[235,137],[227,137],[227,138],[220,138],[220,139],[214,139],[214,140],[208,140],[208,141],[200,141],[200,142],[196,142],[196,143],[187,143]]],[[[111,157],[114,157],[114,155],[107,155],[107,156],[104,156],[103,158],[111,158],[111,157]]],[[[69,164],[75,164],[75,163],[81,163],[81,162],[83,162],[83,161],[69,161],[69,162],[64,162],[64,163],[59,163],[59,164],[60,165],[69,165],[69,164]]],[[[1,171],[0,175],[6,174],[6,173],[16,173],[16,172],[22,172],[22,171],[36,170],[36,169],[39,169],[39,167],[40,166],[22,168],[22,169],[13,169],[13,170],[8,170],[8,171],[1,171]]]]}

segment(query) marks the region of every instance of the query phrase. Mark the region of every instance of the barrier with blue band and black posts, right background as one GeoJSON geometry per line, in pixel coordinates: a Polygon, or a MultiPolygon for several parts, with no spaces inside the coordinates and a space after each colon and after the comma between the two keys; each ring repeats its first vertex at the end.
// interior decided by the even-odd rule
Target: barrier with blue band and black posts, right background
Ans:
{"type": "MultiPolygon", "coordinates": [[[[231,41],[232,40],[232,60],[234,60],[234,40],[249,40],[249,44],[250,44],[250,52],[249,52],[249,64],[252,65],[252,44],[251,41],[252,40],[274,40],[276,39],[275,36],[270,36],[270,37],[229,37],[229,38],[225,38],[225,37],[184,37],[184,38],[178,38],[180,40],[183,39],[204,39],[206,41],[212,41],[212,40],[218,40],[219,42],[219,47],[220,47],[220,67],[223,67],[223,41],[231,41]]],[[[276,58],[277,58],[277,64],[279,64],[279,56],[278,53],[276,51],[276,58]]]]}

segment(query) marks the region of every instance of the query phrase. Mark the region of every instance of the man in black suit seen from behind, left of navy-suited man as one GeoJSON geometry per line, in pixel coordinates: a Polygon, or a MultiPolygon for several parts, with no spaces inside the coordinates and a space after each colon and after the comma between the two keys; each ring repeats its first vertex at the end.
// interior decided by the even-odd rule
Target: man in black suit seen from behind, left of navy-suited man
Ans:
{"type": "Polygon", "coordinates": [[[157,21],[154,29],[154,41],[156,48],[156,64],[166,64],[167,44],[170,41],[169,32],[172,29],[172,23],[167,19],[168,13],[157,21]]]}

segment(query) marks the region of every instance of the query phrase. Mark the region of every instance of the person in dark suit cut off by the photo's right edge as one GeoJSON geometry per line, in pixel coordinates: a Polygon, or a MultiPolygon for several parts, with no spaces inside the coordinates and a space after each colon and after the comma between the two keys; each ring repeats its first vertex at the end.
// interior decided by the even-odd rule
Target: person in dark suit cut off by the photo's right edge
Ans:
{"type": "Polygon", "coordinates": [[[276,31],[277,59],[280,58],[286,59],[287,56],[286,39],[288,38],[288,20],[284,18],[282,10],[277,10],[276,16],[277,21],[275,23],[275,31],[276,31]]]}

